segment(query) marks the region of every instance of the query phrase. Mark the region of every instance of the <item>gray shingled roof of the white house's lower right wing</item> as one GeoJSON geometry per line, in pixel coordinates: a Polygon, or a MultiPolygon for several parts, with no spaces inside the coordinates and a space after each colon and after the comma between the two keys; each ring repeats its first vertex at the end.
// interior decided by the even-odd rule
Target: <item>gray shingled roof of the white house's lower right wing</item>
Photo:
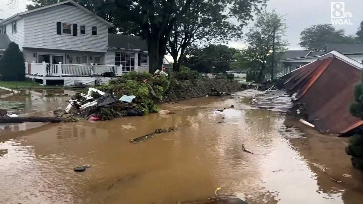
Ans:
{"type": "Polygon", "coordinates": [[[109,48],[126,48],[147,51],[146,41],[138,36],[109,33],[109,48]]]}

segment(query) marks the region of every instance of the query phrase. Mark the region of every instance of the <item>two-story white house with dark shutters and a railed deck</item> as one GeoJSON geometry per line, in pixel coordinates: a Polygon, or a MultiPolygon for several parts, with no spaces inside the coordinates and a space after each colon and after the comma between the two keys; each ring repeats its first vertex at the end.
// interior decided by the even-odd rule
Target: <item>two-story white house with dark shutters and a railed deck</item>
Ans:
{"type": "Polygon", "coordinates": [[[1,20],[0,55],[10,41],[18,44],[26,61],[26,77],[43,84],[72,85],[70,78],[83,77],[85,82],[104,72],[120,76],[132,70],[148,71],[146,42],[109,34],[110,27],[76,2],[62,1],[1,20]]]}

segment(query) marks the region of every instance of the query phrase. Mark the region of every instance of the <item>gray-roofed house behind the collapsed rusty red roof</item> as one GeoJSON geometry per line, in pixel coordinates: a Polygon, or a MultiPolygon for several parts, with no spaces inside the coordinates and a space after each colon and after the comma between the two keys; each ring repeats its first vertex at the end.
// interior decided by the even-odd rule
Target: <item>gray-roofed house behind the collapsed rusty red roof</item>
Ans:
{"type": "Polygon", "coordinates": [[[362,63],[363,43],[327,43],[327,52],[312,52],[310,50],[287,50],[279,59],[284,73],[289,73],[303,65],[318,59],[319,56],[336,50],[355,61],[362,63]]]}

